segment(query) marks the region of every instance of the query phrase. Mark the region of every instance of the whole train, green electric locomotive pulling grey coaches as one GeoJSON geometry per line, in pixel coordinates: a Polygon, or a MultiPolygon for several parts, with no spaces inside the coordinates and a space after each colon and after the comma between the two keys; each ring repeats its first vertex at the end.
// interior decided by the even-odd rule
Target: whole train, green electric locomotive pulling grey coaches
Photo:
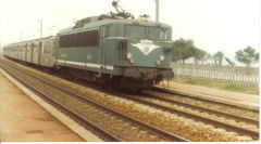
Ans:
{"type": "Polygon", "coordinates": [[[123,89],[171,79],[172,27],[119,12],[77,21],[55,36],[3,48],[3,55],[123,89]]]}

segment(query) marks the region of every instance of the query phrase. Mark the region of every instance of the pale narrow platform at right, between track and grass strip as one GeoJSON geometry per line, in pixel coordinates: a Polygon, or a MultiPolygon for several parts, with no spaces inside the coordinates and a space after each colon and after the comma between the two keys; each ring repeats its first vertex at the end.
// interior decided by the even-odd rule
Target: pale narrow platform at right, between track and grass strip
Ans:
{"type": "MultiPolygon", "coordinates": [[[[167,82],[164,81],[164,86],[167,86],[167,82]]],[[[162,84],[159,84],[159,87],[163,87],[162,84]]],[[[195,94],[203,94],[203,95],[210,95],[214,97],[225,99],[229,101],[235,102],[243,102],[253,105],[259,105],[259,95],[252,95],[252,94],[245,94],[239,92],[229,92],[208,87],[201,87],[201,86],[192,86],[192,84],[184,84],[178,82],[169,81],[169,88],[173,90],[178,91],[188,91],[192,92],[195,94]]]]}

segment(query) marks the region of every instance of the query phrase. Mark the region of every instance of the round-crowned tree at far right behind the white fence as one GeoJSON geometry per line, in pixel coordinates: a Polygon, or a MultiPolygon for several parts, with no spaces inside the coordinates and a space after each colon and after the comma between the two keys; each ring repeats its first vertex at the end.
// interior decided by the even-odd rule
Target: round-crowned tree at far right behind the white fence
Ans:
{"type": "Polygon", "coordinates": [[[251,47],[247,47],[243,50],[236,51],[235,58],[244,63],[246,66],[250,67],[251,64],[257,63],[259,61],[259,53],[251,47]]]}

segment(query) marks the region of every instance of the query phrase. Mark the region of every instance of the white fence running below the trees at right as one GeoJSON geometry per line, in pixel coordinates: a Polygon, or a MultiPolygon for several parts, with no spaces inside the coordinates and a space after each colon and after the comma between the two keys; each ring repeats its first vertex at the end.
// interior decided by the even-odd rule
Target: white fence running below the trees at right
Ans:
{"type": "Polygon", "coordinates": [[[259,86],[259,68],[172,63],[176,78],[211,80],[250,87],[259,86]]]}

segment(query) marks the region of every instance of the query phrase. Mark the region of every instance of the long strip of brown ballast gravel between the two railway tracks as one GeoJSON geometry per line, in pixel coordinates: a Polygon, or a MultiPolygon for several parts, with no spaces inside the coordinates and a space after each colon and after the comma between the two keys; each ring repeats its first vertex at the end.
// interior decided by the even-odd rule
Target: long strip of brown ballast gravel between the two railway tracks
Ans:
{"type": "MultiPolygon", "coordinates": [[[[12,62],[13,63],[13,62],[12,62]]],[[[14,63],[15,64],[15,63],[14,63]]],[[[151,108],[132,101],[126,101],[113,95],[108,95],[96,90],[85,88],[79,84],[49,76],[41,71],[37,71],[18,64],[17,67],[26,69],[36,76],[44,79],[55,82],[69,90],[83,94],[89,99],[92,99],[100,104],[111,107],[115,110],[125,113],[132,117],[138,118],[147,123],[157,126],[161,129],[167,130],[181,136],[184,136],[190,141],[196,142],[233,142],[233,141],[251,141],[248,136],[240,136],[233,132],[226,132],[222,129],[215,129],[212,126],[204,125],[201,122],[194,121],[192,119],[187,119],[179,117],[160,109],[151,108]]]]}

